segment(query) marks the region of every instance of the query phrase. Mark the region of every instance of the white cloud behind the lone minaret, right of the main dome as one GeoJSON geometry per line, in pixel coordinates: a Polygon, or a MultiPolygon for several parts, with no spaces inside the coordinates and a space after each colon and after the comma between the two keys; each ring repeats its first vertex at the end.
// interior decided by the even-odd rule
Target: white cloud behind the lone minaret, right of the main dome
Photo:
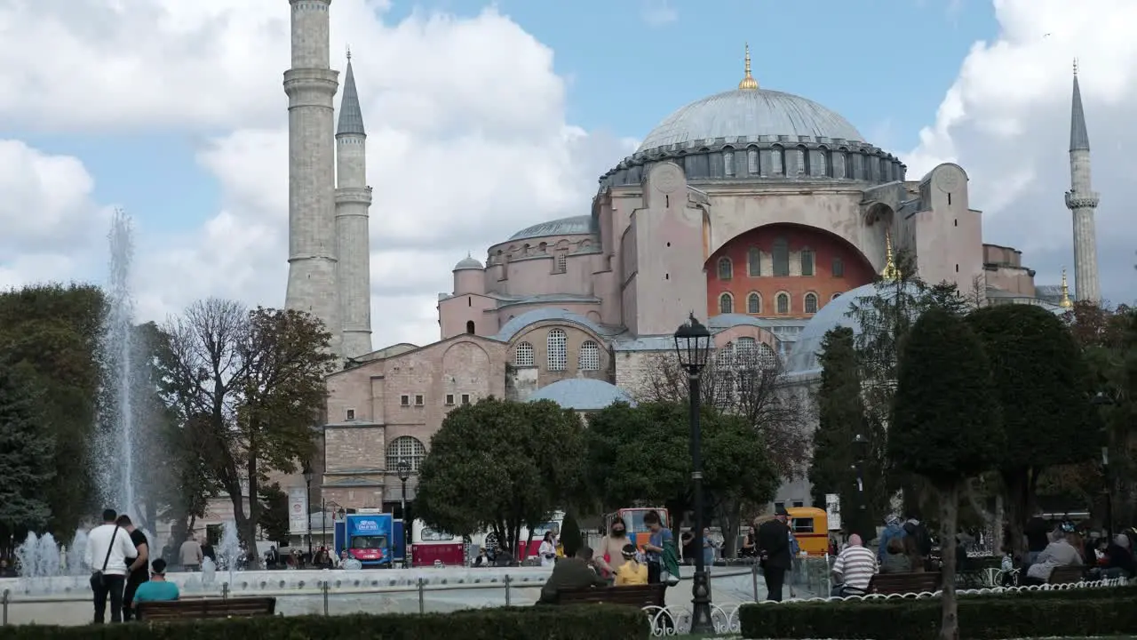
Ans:
{"type": "Polygon", "coordinates": [[[1137,224],[1137,20],[1130,0],[995,0],[999,33],[976,43],[948,89],[935,124],[904,155],[919,178],[958,162],[971,178],[971,204],[985,211],[985,240],[1024,252],[1036,281],[1056,284],[1072,268],[1070,212],[1071,63],[1079,81],[1101,192],[1097,246],[1102,294],[1132,303],[1137,224]],[[1048,35],[1047,35],[1048,34],[1048,35]]]}

